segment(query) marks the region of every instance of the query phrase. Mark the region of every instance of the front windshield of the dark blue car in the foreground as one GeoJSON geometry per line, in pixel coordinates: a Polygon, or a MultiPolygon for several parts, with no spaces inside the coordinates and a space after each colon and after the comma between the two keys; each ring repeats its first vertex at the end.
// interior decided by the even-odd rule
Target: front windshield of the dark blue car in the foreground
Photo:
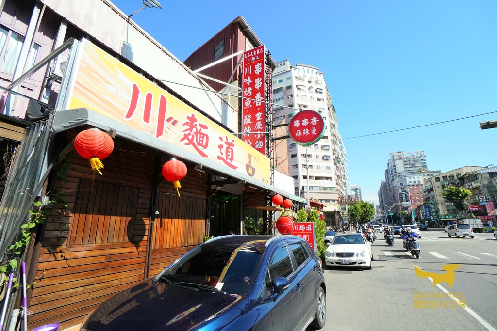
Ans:
{"type": "Polygon", "coordinates": [[[172,285],[205,285],[231,294],[245,294],[253,286],[264,243],[200,245],[167,267],[160,279],[172,285]]]}

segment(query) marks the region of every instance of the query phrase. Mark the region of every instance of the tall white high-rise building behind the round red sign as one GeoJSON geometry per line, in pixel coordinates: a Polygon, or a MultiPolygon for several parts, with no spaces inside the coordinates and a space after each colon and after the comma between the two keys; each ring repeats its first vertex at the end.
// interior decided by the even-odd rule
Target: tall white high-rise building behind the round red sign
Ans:
{"type": "Polygon", "coordinates": [[[273,70],[276,169],[294,179],[295,195],[325,204],[326,211],[339,211],[338,196],[352,194],[348,177],[347,154],[338,132],[336,113],[326,87],[324,73],[318,67],[288,60],[276,63],[273,70]],[[301,146],[285,136],[285,124],[303,109],[321,114],[326,130],[315,144],[301,146]]]}

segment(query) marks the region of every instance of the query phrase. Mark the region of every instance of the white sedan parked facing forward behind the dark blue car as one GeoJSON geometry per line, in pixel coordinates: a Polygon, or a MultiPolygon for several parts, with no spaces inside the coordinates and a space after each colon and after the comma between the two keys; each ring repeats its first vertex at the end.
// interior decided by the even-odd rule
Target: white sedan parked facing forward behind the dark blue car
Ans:
{"type": "Polygon", "coordinates": [[[325,252],[327,266],[362,266],[373,268],[371,243],[360,233],[336,235],[325,252]]]}

